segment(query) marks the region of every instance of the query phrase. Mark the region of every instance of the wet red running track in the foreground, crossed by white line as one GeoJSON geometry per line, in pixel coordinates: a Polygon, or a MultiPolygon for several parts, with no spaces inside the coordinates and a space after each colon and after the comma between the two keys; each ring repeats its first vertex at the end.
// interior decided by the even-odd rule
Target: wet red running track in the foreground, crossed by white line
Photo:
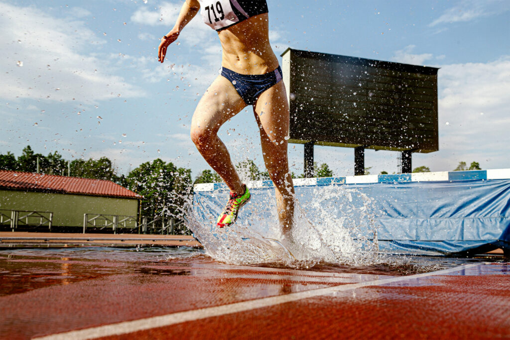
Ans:
{"type": "Polygon", "coordinates": [[[510,266],[412,276],[0,256],[1,337],[510,338],[510,266]]]}

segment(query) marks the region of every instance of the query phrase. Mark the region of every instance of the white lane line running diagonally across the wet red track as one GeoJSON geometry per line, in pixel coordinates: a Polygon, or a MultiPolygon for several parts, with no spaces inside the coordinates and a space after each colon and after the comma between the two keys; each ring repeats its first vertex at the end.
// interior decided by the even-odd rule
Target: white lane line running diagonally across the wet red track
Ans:
{"type": "Polygon", "coordinates": [[[350,291],[356,288],[372,286],[372,285],[381,285],[392,282],[399,282],[405,280],[416,279],[420,277],[427,277],[432,275],[443,275],[451,272],[461,271],[468,268],[480,266],[478,264],[470,264],[463,265],[455,268],[439,270],[436,272],[423,273],[423,274],[415,274],[410,276],[399,276],[392,277],[387,279],[380,279],[374,281],[367,282],[359,282],[359,283],[349,283],[342,284],[333,287],[321,288],[317,290],[290,293],[287,295],[278,295],[272,296],[257,300],[249,300],[243,302],[236,302],[232,304],[217,306],[217,307],[208,307],[208,308],[200,308],[188,311],[182,311],[177,313],[171,313],[167,315],[162,315],[159,317],[145,318],[134,321],[124,321],[111,325],[104,325],[98,327],[92,327],[81,330],[74,330],[65,333],[58,333],[53,335],[47,335],[43,337],[37,337],[36,340],[61,340],[61,339],[93,339],[102,336],[110,336],[110,335],[119,335],[119,334],[127,334],[132,332],[137,332],[141,330],[147,330],[152,328],[170,326],[174,324],[179,324],[188,321],[200,320],[211,317],[218,317],[222,315],[238,313],[242,311],[264,308],[275,306],[278,304],[292,302],[307,298],[313,298],[322,295],[335,294],[337,292],[345,292],[350,291]]]}

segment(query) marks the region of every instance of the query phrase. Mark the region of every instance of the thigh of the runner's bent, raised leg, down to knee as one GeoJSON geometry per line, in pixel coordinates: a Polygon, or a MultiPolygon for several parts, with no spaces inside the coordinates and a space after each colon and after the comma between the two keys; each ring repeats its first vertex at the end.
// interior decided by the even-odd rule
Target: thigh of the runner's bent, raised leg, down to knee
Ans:
{"type": "Polygon", "coordinates": [[[224,122],[245,106],[232,83],[219,75],[198,102],[191,119],[192,130],[200,128],[217,132],[224,122]]]}

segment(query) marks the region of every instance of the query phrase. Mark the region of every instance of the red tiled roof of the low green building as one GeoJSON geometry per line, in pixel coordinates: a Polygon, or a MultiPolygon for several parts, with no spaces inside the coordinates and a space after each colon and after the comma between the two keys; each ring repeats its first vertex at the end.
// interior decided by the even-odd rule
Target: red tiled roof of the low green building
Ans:
{"type": "Polygon", "coordinates": [[[0,188],[65,194],[142,198],[111,180],[0,170],[0,188]]]}

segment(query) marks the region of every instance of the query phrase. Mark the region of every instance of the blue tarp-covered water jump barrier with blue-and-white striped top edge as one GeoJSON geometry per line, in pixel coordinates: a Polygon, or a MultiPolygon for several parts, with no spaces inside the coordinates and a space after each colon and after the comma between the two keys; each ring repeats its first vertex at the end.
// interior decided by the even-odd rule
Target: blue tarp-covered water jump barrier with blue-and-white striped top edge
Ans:
{"type": "MultiPolygon", "coordinates": [[[[355,189],[369,197],[380,252],[510,250],[510,169],[296,178],[294,186],[305,211],[326,188],[355,189]]],[[[248,187],[252,200],[275,204],[270,180],[248,182],[248,187]]],[[[221,211],[227,190],[221,183],[195,185],[194,209],[204,222],[221,211]]]]}

